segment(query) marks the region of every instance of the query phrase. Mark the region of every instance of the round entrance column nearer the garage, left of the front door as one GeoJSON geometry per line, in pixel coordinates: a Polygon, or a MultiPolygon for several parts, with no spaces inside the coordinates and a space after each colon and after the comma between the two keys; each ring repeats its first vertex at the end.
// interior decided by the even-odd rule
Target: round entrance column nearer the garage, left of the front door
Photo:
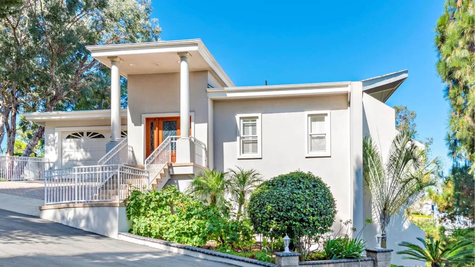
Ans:
{"type": "Polygon", "coordinates": [[[120,117],[120,57],[108,57],[111,61],[111,141],[106,145],[106,152],[114,148],[121,138],[120,117]]]}

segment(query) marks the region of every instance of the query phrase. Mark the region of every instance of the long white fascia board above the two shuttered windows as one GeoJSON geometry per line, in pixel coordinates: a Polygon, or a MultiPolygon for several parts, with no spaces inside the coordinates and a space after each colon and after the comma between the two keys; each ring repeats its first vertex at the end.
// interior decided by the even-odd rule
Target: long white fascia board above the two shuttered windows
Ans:
{"type": "Polygon", "coordinates": [[[293,97],[309,95],[345,95],[350,93],[350,82],[327,84],[299,84],[282,86],[246,86],[209,88],[212,100],[293,97]]]}

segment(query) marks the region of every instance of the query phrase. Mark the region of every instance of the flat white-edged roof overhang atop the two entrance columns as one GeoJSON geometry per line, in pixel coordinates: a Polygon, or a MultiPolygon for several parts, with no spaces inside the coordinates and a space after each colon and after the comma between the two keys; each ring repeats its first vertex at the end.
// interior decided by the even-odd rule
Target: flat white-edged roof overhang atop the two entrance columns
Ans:
{"type": "Polygon", "coordinates": [[[180,72],[180,57],[177,53],[189,52],[190,71],[208,70],[225,86],[234,86],[201,39],[99,45],[86,48],[92,57],[107,67],[111,67],[109,57],[120,57],[119,71],[124,77],[135,74],[180,72]]]}

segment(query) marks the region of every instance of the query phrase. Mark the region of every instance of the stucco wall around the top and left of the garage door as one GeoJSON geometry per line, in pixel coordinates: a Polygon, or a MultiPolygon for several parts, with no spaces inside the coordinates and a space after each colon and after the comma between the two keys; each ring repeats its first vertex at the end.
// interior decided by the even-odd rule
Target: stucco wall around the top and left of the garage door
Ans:
{"type": "MultiPolygon", "coordinates": [[[[122,125],[127,125],[127,119],[122,118],[122,125]]],[[[57,128],[64,127],[94,127],[94,126],[108,126],[110,130],[111,119],[88,119],[88,120],[60,120],[48,121],[45,123],[45,158],[49,162],[54,162],[53,169],[61,168],[61,132],[57,132],[57,128]]]]}

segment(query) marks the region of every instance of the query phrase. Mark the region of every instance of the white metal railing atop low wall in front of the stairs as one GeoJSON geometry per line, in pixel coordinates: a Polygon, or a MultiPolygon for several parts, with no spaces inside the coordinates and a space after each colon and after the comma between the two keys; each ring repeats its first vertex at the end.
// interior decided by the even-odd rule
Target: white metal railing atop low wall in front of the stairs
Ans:
{"type": "Polygon", "coordinates": [[[122,164],[45,171],[45,205],[122,201],[132,189],[149,189],[147,171],[122,164]]]}

